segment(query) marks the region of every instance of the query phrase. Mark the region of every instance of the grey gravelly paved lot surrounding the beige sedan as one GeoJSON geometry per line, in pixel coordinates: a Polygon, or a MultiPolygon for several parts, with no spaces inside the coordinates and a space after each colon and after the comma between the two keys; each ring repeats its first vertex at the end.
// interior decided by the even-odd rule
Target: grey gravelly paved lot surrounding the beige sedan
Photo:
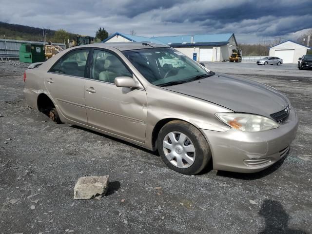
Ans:
{"type": "Polygon", "coordinates": [[[25,67],[0,63],[0,234],[312,233],[312,71],[208,63],[284,92],[300,126],[286,159],[261,173],[184,176],[157,154],[27,106],[25,67]],[[84,175],[110,175],[108,195],[73,200],[84,175]]]}

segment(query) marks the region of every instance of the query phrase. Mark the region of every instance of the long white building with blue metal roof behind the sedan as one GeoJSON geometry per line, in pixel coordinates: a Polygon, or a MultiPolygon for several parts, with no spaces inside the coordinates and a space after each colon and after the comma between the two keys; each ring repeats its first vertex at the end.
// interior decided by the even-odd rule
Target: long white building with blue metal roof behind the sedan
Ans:
{"type": "Polygon", "coordinates": [[[237,42],[233,33],[206,34],[169,37],[140,37],[124,33],[115,33],[102,42],[152,42],[174,47],[191,59],[200,62],[229,60],[237,42]]]}

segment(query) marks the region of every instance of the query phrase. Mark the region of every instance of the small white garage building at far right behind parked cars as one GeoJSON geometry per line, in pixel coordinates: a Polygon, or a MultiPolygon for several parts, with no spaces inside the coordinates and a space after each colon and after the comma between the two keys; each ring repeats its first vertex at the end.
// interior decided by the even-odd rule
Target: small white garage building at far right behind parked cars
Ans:
{"type": "Polygon", "coordinates": [[[298,58],[306,55],[307,50],[310,49],[312,48],[292,40],[286,40],[282,43],[272,46],[270,48],[269,56],[283,59],[283,63],[297,63],[298,58]]]}

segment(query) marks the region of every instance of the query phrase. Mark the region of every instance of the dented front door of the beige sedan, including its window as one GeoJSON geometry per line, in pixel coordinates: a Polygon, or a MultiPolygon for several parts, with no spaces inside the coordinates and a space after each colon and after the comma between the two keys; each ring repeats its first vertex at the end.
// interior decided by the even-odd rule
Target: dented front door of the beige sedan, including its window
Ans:
{"type": "Polygon", "coordinates": [[[90,79],[85,83],[88,125],[144,142],[146,92],[143,89],[117,87],[115,78],[121,76],[133,77],[133,74],[117,55],[94,50],[90,79]]]}

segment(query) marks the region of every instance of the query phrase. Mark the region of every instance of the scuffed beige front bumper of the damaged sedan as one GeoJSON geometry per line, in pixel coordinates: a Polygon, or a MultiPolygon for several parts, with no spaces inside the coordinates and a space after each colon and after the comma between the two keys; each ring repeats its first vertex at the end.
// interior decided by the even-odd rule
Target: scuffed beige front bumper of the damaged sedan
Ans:
{"type": "Polygon", "coordinates": [[[216,170],[254,173],[270,167],[287,155],[298,129],[297,113],[292,108],[287,120],[276,129],[247,133],[203,130],[216,170]]]}

